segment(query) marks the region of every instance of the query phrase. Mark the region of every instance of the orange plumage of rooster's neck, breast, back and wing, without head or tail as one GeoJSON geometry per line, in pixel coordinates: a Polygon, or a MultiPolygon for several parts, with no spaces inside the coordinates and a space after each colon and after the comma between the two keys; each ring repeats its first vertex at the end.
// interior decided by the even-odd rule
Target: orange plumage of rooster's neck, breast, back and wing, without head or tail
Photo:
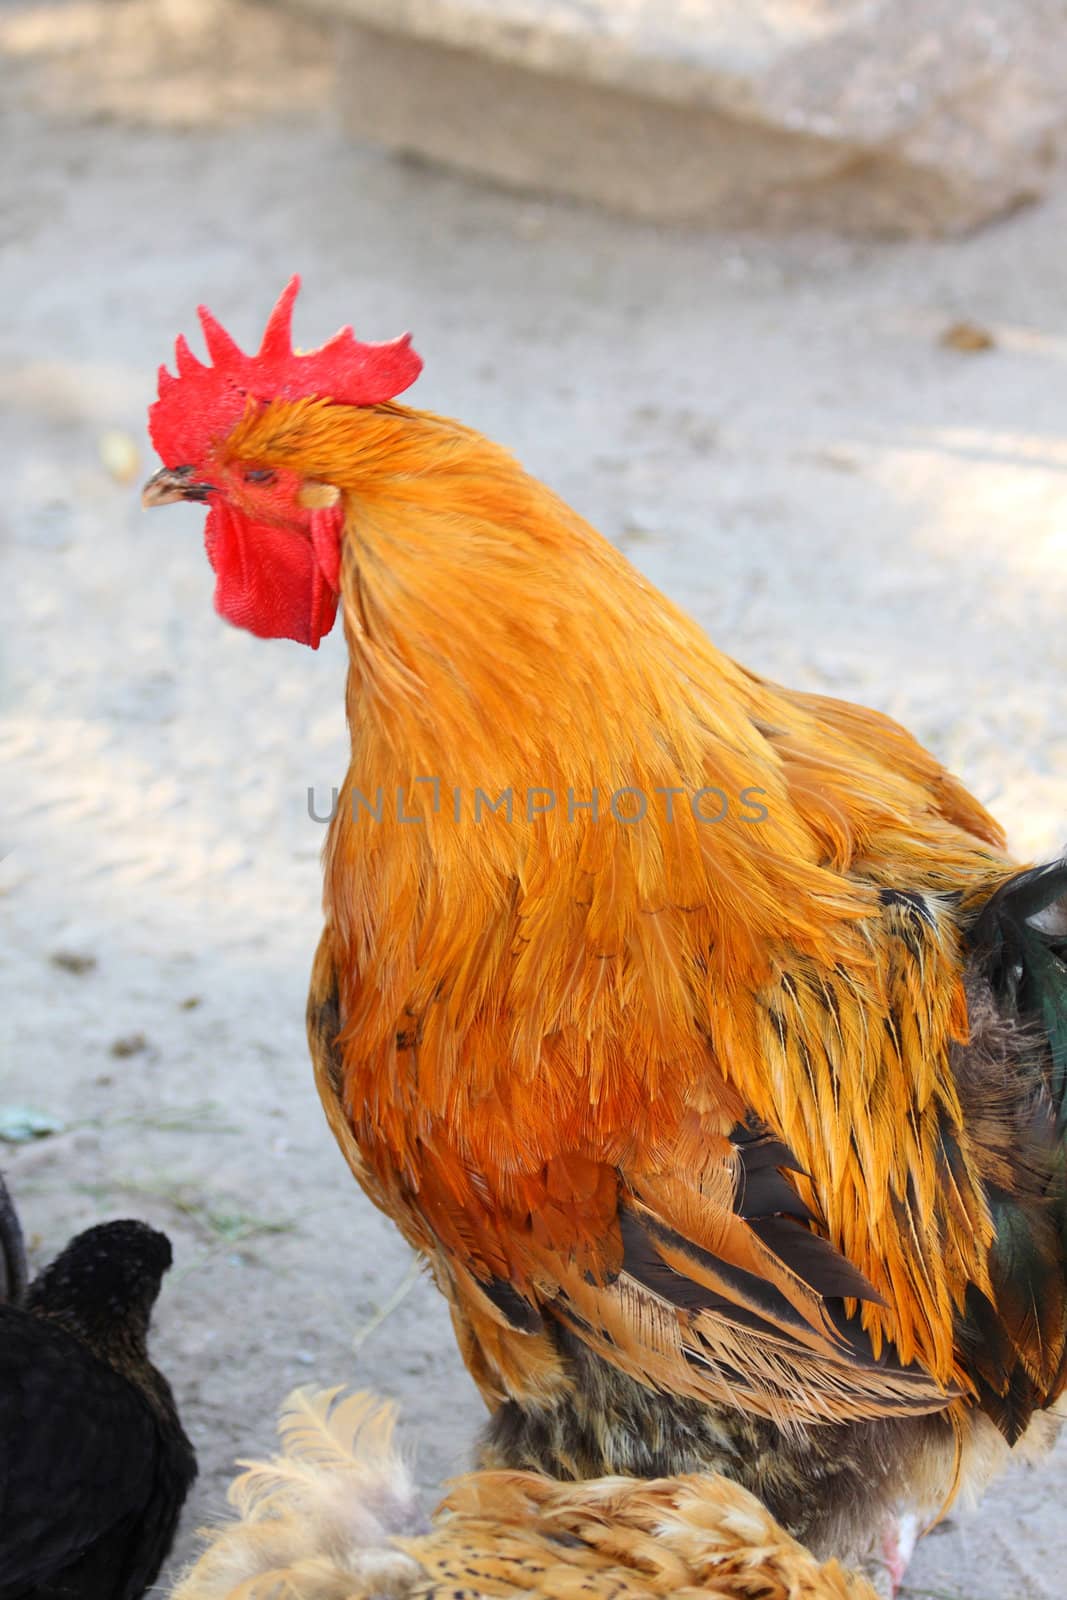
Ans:
{"type": "Polygon", "coordinates": [[[657,1389],[776,1419],[968,1394],[953,1315],[989,1288],[992,1222],[950,1070],[955,904],[1009,874],[997,824],[888,718],[729,661],[459,424],[275,402],[227,448],[344,499],[352,765],[312,1051],[486,1397],[563,1381],[542,1312],[657,1389]],[[640,822],[608,814],[625,789],[640,822]],[[510,816],[488,805],[507,790],[510,816]],[[797,1227],[861,1275],[846,1334],[798,1234],[768,1246],[733,1203],[752,1123],[790,1154],[797,1227]],[[627,1200],[677,1235],[648,1246],[659,1290],[625,1270],[627,1200]]]}

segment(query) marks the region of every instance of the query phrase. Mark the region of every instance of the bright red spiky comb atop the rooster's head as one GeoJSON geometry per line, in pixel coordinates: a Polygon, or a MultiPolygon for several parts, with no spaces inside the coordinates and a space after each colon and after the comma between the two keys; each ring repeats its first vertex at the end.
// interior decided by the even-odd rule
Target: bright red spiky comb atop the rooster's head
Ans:
{"type": "Polygon", "coordinates": [[[334,400],[338,405],[379,405],[402,394],[422,371],[411,334],[386,344],[360,344],[350,328],[334,333],[318,350],[293,349],[293,302],[301,286],[291,277],[267,318],[256,355],[245,355],[206,306],[197,307],[210,366],[178,336],[178,378],[160,366],[160,397],[149,406],[152,443],[168,467],[195,462],[221,438],[254,400],[334,400]]]}

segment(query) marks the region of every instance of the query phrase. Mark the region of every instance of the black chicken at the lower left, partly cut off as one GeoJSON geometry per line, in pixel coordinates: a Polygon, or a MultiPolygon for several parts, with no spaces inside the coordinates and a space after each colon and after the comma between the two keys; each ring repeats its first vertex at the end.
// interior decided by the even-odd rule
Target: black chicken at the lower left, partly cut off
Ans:
{"type": "Polygon", "coordinates": [[[165,1234],[104,1222],[0,1304],[0,1600],[138,1600],[158,1574],[197,1475],[147,1355],[171,1259],[165,1234]]]}

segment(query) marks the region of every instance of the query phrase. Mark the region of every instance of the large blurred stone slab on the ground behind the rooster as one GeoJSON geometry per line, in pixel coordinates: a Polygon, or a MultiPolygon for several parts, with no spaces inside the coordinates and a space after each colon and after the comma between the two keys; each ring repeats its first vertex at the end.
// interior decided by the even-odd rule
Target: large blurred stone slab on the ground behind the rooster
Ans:
{"type": "Polygon", "coordinates": [[[1062,0],[290,0],[357,134],[689,222],[958,232],[1040,195],[1062,0]]]}

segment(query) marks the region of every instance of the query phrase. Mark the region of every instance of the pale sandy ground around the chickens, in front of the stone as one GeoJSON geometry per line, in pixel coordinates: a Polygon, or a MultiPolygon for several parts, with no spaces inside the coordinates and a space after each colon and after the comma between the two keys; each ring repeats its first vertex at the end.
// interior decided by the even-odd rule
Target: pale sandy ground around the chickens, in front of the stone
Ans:
{"type": "MultiPolygon", "coordinates": [[[[198,299],[250,342],[299,269],[304,342],[411,326],[416,402],[514,446],[731,653],[905,720],[1021,851],[1067,834],[1067,195],[952,245],[661,235],[352,147],[328,40],[210,14],[0,8],[0,1102],[62,1123],[0,1154],[38,1262],[107,1216],[174,1240],[182,1555],[296,1382],[397,1395],[427,1488],[480,1421],[427,1282],[374,1326],[410,1258],[306,1056],[342,640],[226,627],[200,515],[138,507],[198,299]],[[960,317],[995,347],[942,347],[960,317]]],[[[1067,1448],[1016,1470],[912,1594],[1061,1595],[1065,1490],[1067,1448]]]]}

